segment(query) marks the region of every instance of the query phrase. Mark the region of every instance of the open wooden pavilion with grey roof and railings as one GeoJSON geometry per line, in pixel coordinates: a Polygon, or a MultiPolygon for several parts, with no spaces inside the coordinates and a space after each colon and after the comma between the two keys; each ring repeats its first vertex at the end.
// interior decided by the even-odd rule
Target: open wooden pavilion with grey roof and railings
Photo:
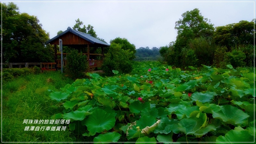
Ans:
{"type": "MultiPolygon", "coordinates": [[[[109,44],[91,36],[90,34],[82,33],[79,31],[76,31],[70,27],[67,28],[66,31],[62,32],[61,34],[53,37],[49,41],[46,42],[46,44],[53,44],[54,45],[54,59],[55,63],[57,65],[56,68],[61,68],[61,60],[58,59],[57,55],[60,55],[60,53],[57,53],[57,45],[59,45],[59,39],[62,39],[62,46],[69,46],[75,49],[79,49],[83,51],[83,54],[87,55],[87,60],[89,63],[90,68],[99,68],[102,66],[103,62],[103,56],[104,56],[104,47],[110,46],[109,44]],[[87,47],[87,51],[86,51],[87,47]],[[96,53],[90,53],[90,48],[101,48],[101,54],[96,53]],[[87,52],[87,53],[84,53],[87,52]],[[90,56],[101,56],[101,60],[91,60],[90,56]]],[[[67,53],[62,53],[63,57],[67,53]]],[[[67,60],[63,59],[64,66],[67,64],[67,60]]]]}

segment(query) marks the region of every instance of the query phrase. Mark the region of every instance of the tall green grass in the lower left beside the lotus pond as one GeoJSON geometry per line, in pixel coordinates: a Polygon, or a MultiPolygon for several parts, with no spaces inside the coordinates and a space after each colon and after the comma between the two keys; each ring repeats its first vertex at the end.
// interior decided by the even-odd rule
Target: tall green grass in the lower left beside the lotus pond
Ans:
{"type": "Polygon", "coordinates": [[[50,100],[49,91],[36,93],[37,88],[57,91],[73,83],[60,72],[28,75],[6,82],[2,86],[2,141],[3,142],[83,142],[83,137],[68,131],[24,131],[25,126],[60,126],[57,124],[23,124],[24,119],[50,120],[60,112],[58,103],[50,100]]]}

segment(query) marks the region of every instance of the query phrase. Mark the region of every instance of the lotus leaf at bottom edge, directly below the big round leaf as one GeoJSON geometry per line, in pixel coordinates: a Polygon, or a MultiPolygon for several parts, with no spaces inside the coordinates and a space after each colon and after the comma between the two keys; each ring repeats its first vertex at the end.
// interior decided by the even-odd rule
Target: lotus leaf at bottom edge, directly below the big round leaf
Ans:
{"type": "Polygon", "coordinates": [[[99,134],[99,136],[93,139],[93,142],[102,142],[102,143],[110,143],[117,142],[121,137],[121,134],[117,132],[107,132],[105,134],[99,134]]]}

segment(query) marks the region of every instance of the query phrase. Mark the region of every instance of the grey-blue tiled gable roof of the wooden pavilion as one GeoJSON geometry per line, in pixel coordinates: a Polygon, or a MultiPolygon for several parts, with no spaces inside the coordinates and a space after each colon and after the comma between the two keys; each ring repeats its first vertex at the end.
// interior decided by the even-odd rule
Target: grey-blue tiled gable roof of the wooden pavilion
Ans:
{"type": "Polygon", "coordinates": [[[59,34],[59,35],[53,37],[52,39],[50,39],[49,41],[47,41],[46,44],[49,44],[51,41],[59,38],[60,36],[66,34],[68,32],[71,32],[74,35],[79,36],[79,37],[83,38],[84,40],[86,40],[86,41],[88,41],[88,42],[90,42],[92,44],[103,44],[103,45],[109,46],[109,44],[107,44],[107,43],[105,43],[105,42],[103,42],[103,41],[101,41],[101,40],[91,36],[90,34],[86,34],[86,33],[80,32],[80,31],[76,31],[76,30],[74,30],[74,29],[72,29],[70,27],[68,27],[67,30],[65,30],[61,34],[59,34]]]}

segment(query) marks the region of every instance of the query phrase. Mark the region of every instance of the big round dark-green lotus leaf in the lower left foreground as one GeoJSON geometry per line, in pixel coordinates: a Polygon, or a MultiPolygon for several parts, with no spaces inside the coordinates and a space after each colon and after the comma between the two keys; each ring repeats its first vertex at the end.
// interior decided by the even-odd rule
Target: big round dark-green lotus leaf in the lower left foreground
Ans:
{"type": "Polygon", "coordinates": [[[103,109],[96,109],[85,120],[87,130],[91,133],[102,132],[110,130],[114,127],[116,118],[112,114],[108,114],[103,109]]]}

